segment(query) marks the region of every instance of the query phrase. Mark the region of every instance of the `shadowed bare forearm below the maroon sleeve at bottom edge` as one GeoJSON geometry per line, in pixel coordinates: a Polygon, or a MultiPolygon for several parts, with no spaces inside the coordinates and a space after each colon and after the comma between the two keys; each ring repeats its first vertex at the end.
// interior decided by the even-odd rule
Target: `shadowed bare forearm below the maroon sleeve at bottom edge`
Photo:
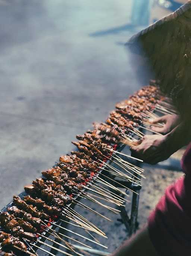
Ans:
{"type": "Polygon", "coordinates": [[[147,226],[126,241],[112,256],[158,256],[150,241],[147,226]]]}

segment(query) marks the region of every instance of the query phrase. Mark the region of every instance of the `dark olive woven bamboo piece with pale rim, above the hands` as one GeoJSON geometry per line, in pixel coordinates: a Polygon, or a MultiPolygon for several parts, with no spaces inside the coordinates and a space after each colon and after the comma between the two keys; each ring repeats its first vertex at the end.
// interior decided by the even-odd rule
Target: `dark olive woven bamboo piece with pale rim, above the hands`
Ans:
{"type": "Polygon", "coordinates": [[[126,46],[147,58],[161,90],[180,111],[191,107],[191,1],[132,36],[126,46]]]}

